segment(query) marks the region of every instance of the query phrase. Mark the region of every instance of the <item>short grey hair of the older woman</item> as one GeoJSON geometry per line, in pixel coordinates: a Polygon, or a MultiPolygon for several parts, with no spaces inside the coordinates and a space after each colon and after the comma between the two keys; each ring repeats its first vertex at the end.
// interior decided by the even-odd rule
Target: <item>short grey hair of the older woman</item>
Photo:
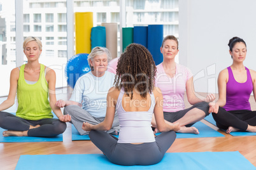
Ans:
{"type": "MultiPolygon", "coordinates": [[[[108,63],[109,63],[112,60],[112,56],[111,56],[110,51],[108,50],[108,48],[97,46],[97,47],[92,49],[92,51],[90,52],[90,54],[87,58],[89,65],[90,65],[90,60],[91,61],[94,60],[94,57],[102,55],[103,53],[106,53],[107,58],[108,58],[108,63]]],[[[90,65],[90,69],[94,70],[92,65],[90,65]]]]}

